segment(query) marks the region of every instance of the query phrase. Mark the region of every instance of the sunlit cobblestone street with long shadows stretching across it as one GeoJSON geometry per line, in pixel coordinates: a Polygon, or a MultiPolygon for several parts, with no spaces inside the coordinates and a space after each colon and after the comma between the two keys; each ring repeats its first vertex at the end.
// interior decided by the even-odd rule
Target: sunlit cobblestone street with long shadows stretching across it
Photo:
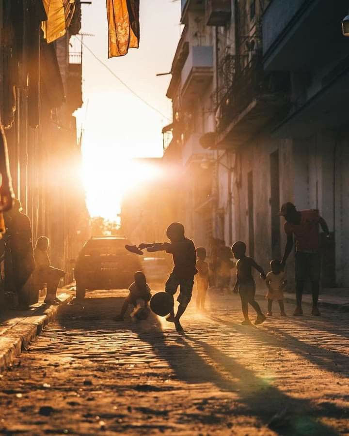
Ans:
{"type": "Polygon", "coordinates": [[[244,327],[238,297],[215,296],[205,315],[191,302],[178,334],[114,322],[123,295],[65,307],[0,375],[1,434],[349,434],[348,313],[275,306],[244,327]]]}

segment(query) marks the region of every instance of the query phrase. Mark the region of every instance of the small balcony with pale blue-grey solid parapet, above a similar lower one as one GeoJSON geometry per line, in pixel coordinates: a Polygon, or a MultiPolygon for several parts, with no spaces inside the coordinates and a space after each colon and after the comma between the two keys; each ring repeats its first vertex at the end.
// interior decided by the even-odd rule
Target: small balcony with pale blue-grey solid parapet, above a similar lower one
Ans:
{"type": "Polygon", "coordinates": [[[190,47],[182,74],[182,103],[190,103],[202,93],[213,78],[213,47],[190,47]]]}

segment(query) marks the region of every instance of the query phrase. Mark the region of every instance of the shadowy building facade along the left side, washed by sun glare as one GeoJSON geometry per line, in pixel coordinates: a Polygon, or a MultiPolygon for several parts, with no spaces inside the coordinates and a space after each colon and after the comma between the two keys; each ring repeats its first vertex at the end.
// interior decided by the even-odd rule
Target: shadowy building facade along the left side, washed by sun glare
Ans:
{"type": "Polygon", "coordinates": [[[70,259],[83,243],[88,221],[73,116],[82,105],[81,50],[73,53],[70,45],[80,30],[80,4],[66,6],[64,34],[58,37],[50,33],[41,2],[0,1],[0,119],[33,244],[48,236],[52,264],[70,280],[70,259]]]}

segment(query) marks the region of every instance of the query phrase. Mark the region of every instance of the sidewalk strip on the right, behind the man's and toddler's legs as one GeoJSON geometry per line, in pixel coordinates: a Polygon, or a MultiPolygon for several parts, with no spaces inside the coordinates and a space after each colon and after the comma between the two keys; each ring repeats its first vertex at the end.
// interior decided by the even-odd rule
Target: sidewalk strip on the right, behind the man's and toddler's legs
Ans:
{"type": "MultiPolygon", "coordinates": [[[[265,296],[266,291],[262,289],[257,289],[256,295],[265,296]]],[[[284,292],[285,300],[288,303],[296,304],[296,294],[284,292]]],[[[349,289],[348,288],[324,288],[320,291],[319,296],[319,307],[324,307],[327,309],[333,309],[343,312],[349,312],[349,289]]],[[[312,305],[311,294],[303,294],[302,298],[303,304],[312,305]]]]}

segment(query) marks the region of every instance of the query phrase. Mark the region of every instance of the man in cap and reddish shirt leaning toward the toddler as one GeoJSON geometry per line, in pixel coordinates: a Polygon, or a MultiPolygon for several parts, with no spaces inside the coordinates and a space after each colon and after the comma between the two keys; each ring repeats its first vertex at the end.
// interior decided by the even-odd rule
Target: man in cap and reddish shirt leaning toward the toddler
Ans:
{"type": "Polygon", "coordinates": [[[320,243],[319,225],[330,237],[329,228],[326,221],[320,217],[318,210],[298,211],[296,206],[290,202],[284,203],[281,207],[280,215],[285,218],[285,232],[287,243],[281,264],[285,266],[286,260],[293,249],[293,239],[296,242],[296,301],[297,307],[294,316],[303,314],[301,300],[303,295],[304,283],[311,281],[313,294],[312,315],[319,316],[317,300],[319,295],[320,281],[320,243]]]}

